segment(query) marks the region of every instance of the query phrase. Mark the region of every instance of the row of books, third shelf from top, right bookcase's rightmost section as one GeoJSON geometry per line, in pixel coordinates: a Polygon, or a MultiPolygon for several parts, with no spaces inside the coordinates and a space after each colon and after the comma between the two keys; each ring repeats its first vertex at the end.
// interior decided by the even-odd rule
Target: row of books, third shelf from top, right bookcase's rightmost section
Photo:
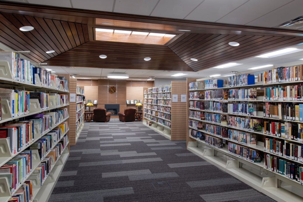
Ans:
{"type": "Polygon", "coordinates": [[[303,104],[278,103],[278,105],[265,103],[263,116],[281,120],[303,121],[303,104]]]}

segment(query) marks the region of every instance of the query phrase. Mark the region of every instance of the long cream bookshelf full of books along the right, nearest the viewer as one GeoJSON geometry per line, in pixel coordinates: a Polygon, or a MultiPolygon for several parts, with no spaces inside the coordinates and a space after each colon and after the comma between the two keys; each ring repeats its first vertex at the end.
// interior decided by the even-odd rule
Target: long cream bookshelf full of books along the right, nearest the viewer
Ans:
{"type": "MultiPolygon", "coordinates": [[[[300,70],[301,74],[297,76],[300,81],[295,79],[295,75],[297,75],[295,70],[292,70],[292,74],[288,74],[293,77],[291,81],[282,82],[281,79],[278,82],[278,79],[273,81],[274,79],[268,79],[267,77],[267,81],[269,80],[270,83],[262,81],[253,82],[251,85],[229,86],[230,78],[225,77],[222,79],[226,79],[227,83],[219,88],[205,88],[205,80],[187,78],[187,94],[189,95],[187,99],[187,149],[274,200],[302,201],[303,181],[291,179],[291,176],[286,176],[283,171],[285,169],[284,165],[287,165],[285,162],[289,162],[289,167],[298,165],[298,168],[303,168],[302,158],[291,158],[291,156],[297,154],[297,150],[298,155],[301,154],[299,149],[303,145],[303,134],[301,133],[299,138],[299,131],[303,128],[303,121],[290,120],[290,116],[288,118],[278,116],[278,114],[281,115],[285,105],[290,107],[287,114],[295,116],[295,109],[291,107],[302,103],[302,99],[299,99],[299,95],[302,94],[299,92],[302,92],[303,69],[302,66],[294,68],[301,68],[302,70],[300,70]],[[193,86],[193,82],[198,83],[193,86]],[[301,86],[286,87],[292,85],[301,86]],[[283,86],[285,86],[284,91],[283,86]],[[268,87],[272,90],[270,95],[268,95],[268,87]],[[279,93],[275,94],[274,87],[280,87],[279,93]],[[256,90],[251,91],[252,93],[249,92],[249,95],[254,95],[252,96],[254,97],[253,100],[249,96],[245,99],[242,99],[241,96],[240,98],[237,97],[237,95],[240,95],[240,91],[245,92],[245,89],[251,88],[256,90]],[[295,100],[296,98],[290,98],[289,88],[298,89],[298,93],[296,90],[292,91],[292,95],[298,96],[297,100],[295,100]],[[226,90],[223,92],[228,92],[227,96],[216,97],[216,95],[220,95],[220,89],[226,90]],[[235,90],[236,98],[231,93],[234,89],[237,89],[235,90]],[[286,95],[286,98],[280,95],[286,95]],[[278,109],[278,105],[282,105],[281,109],[278,109]],[[291,110],[294,112],[292,113],[291,110]],[[270,122],[275,123],[271,123],[271,128],[268,129],[270,126],[267,126],[267,124],[270,122]],[[249,124],[245,123],[251,123],[251,127],[248,127],[249,124]],[[283,127],[289,124],[294,124],[292,125],[294,128],[289,129],[293,137],[288,138],[284,135],[286,129],[283,130],[283,127]],[[296,127],[299,131],[295,129],[296,127]],[[282,130],[279,130],[279,128],[282,128],[282,130]],[[288,147],[290,145],[294,153],[287,156],[285,154],[287,152],[289,155],[291,149],[288,147]],[[284,150],[283,146],[287,149],[284,150]],[[277,148],[278,151],[275,151],[277,148]],[[251,156],[245,154],[251,154],[251,156]],[[253,158],[256,154],[260,154],[261,162],[253,158]],[[278,161],[275,160],[277,158],[278,161]],[[271,164],[272,170],[271,162],[273,163],[271,164]],[[279,167],[280,173],[277,172],[279,167]]],[[[277,72],[274,71],[274,68],[269,71],[277,72]]],[[[298,72],[300,71],[298,70],[298,72]]],[[[274,77],[280,78],[282,76],[273,73],[272,78],[274,77]]],[[[215,82],[215,79],[211,81],[211,84],[212,82],[215,82]]],[[[287,169],[285,169],[286,172],[288,172],[287,169]]],[[[293,176],[295,177],[295,175],[293,176]]]]}

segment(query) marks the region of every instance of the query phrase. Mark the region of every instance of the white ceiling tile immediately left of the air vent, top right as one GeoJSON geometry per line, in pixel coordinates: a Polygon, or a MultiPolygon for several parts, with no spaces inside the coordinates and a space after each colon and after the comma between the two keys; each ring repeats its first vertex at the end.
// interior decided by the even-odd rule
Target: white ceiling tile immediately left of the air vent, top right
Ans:
{"type": "Polygon", "coordinates": [[[262,17],[255,19],[246,25],[260,27],[274,27],[288,20],[294,19],[302,15],[302,0],[292,1],[262,17]]]}

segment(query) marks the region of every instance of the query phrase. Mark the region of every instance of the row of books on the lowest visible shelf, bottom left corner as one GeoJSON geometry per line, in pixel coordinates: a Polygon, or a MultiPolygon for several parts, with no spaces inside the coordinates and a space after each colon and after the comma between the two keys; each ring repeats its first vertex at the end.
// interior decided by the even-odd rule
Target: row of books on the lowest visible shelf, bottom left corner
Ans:
{"type": "Polygon", "coordinates": [[[31,202],[33,200],[32,180],[26,180],[8,202],[31,202]]]}

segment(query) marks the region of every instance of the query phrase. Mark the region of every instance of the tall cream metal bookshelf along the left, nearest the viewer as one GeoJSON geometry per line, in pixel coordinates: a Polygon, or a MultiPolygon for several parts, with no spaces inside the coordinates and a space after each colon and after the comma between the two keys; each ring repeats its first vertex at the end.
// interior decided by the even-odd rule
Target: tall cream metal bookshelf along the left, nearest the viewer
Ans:
{"type": "MultiPolygon", "coordinates": [[[[23,56],[20,55],[20,58],[23,58],[23,56]]],[[[7,202],[10,200],[18,189],[29,180],[33,187],[33,201],[47,201],[69,156],[68,80],[61,81],[58,78],[59,75],[46,72],[46,74],[49,74],[50,80],[46,79],[42,81],[40,78],[43,77],[40,77],[39,74],[33,72],[32,78],[35,78],[35,83],[32,81],[25,82],[21,79],[16,80],[14,78],[12,68],[13,67],[9,65],[9,62],[0,62],[0,88],[4,90],[11,89],[15,93],[24,92],[26,94],[28,91],[29,97],[25,106],[16,109],[19,111],[18,113],[15,113],[12,110],[13,105],[11,104],[11,101],[2,97],[0,123],[2,126],[5,126],[8,123],[21,124],[26,121],[28,124],[26,127],[32,127],[32,130],[26,132],[28,139],[23,140],[22,146],[11,143],[10,139],[7,138],[0,139],[0,169],[3,169],[11,160],[21,158],[25,153],[28,153],[27,155],[31,157],[32,167],[28,172],[23,173],[24,176],[15,184],[15,187],[12,190],[10,188],[12,184],[8,183],[9,178],[0,175],[0,201],[7,202]],[[43,100],[41,98],[31,98],[31,93],[47,94],[43,103],[43,108],[41,107],[41,102],[43,102],[43,100]],[[45,120],[48,120],[48,124],[46,125],[41,122],[43,123],[43,127],[40,127],[39,124],[34,121],[31,122],[32,117],[39,116],[39,114],[44,114],[41,115],[41,117],[43,117],[42,119],[45,118],[45,120]],[[39,153],[38,150],[33,149],[33,146],[35,146],[40,139],[45,139],[47,137],[51,137],[52,141],[52,146],[49,150],[39,153]],[[14,145],[17,146],[16,149],[14,145]],[[29,150],[31,150],[31,154],[29,154],[29,150]],[[53,151],[58,151],[57,155],[53,156],[53,151]],[[35,172],[37,169],[40,169],[43,162],[50,162],[51,169],[41,183],[41,179],[38,179],[35,172]]],[[[27,71],[29,70],[26,69],[24,72],[27,71]]],[[[20,94],[20,97],[21,96],[22,94],[20,94]]],[[[26,98],[24,97],[22,99],[26,98]]],[[[18,128],[21,126],[14,127],[18,128]]]]}

